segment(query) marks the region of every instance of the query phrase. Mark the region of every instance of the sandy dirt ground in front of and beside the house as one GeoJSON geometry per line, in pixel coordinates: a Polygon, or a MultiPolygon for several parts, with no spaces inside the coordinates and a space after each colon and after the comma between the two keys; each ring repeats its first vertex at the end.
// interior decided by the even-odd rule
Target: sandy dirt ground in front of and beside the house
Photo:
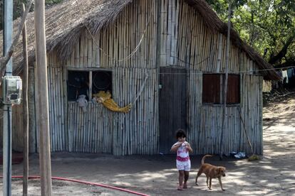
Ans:
{"type": "MultiPolygon", "coordinates": [[[[264,107],[264,156],[249,162],[217,157],[214,165],[227,167],[224,192],[213,180],[207,190],[205,175],[194,185],[200,156],[192,156],[192,172],[183,195],[295,195],[295,97],[264,107]]],[[[53,153],[52,175],[135,190],[148,195],[178,195],[175,156],[125,156],[53,153]]],[[[23,165],[13,165],[13,175],[22,175],[23,165]]],[[[30,175],[38,175],[38,156],[30,156],[30,175]]],[[[2,167],[0,167],[2,172],[2,167]]],[[[0,186],[2,187],[2,180],[0,186]]],[[[13,180],[12,195],[21,195],[21,180],[13,180]]],[[[2,190],[2,188],[1,188],[2,190]]],[[[0,195],[1,195],[0,190],[0,195]]],[[[29,180],[29,195],[40,195],[39,180],[29,180]]],[[[130,195],[102,187],[53,180],[53,195],[130,195]]]]}

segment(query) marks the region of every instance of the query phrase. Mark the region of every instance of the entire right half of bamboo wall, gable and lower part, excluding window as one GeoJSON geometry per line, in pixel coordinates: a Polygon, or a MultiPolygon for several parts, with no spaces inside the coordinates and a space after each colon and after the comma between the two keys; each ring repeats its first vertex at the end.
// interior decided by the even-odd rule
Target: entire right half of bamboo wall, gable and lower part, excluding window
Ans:
{"type": "MultiPolygon", "coordinates": [[[[227,38],[209,31],[200,14],[184,1],[162,0],[160,14],[160,66],[186,67],[190,73],[188,139],[197,154],[219,153],[222,105],[202,104],[202,74],[224,73],[227,38]]],[[[262,153],[262,77],[255,76],[257,66],[234,45],[229,53],[229,73],[240,75],[241,103],[227,107],[223,151],[251,152],[240,107],[254,153],[262,153]]]]}

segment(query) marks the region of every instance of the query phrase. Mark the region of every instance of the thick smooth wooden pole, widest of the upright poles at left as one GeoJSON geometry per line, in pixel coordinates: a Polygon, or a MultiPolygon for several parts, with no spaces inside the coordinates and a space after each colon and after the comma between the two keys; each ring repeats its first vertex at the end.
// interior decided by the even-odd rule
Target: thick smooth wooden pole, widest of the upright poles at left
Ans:
{"type": "Polygon", "coordinates": [[[51,152],[48,114],[48,77],[46,62],[45,36],[45,1],[35,1],[37,96],[38,96],[38,131],[39,161],[41,175],[41,195],[52,194],[51,188],[51,152]]]}

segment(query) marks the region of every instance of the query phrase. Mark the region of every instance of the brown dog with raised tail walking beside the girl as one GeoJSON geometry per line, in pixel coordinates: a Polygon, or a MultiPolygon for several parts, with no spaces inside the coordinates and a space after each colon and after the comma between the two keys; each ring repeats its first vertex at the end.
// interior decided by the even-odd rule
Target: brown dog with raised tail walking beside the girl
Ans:
{"type": "Polygon", "coordinates": [[[202,173],[205,173],[205,175],[207,177],[206,183],[207,183],[207,187],[209,188],[209,190],[211,190],[212,178],[218,178],[219,185],[222,188],[222,190],[224,190],[223,187],[222,187],[221,178],[222,178],[222,176],[223,177],[225,176],[225,168],[210,165],[209,163],[204,163],[205,158],[209,157],[209,156],[210,155],[206,155],[206,156],[203,156],[203,158],[202,158],[202,165],[201,165],[199,171],[197,172],[196,185],[198,185],[197,184],[197,178],[199,178],[199,176],[202,173]],[[208,185],[208,180],[209,180],[209,185],[208,185]]]}

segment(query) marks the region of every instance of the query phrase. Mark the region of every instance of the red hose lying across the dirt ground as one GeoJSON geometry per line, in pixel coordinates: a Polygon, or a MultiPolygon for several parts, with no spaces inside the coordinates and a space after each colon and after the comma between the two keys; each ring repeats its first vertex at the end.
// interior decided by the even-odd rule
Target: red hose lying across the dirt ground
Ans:
{"type": "MultiPolygon", "coordinates": [[[[0,175],[0,178],[3,178],[3,176],[0,175]]],[[[11,178],[23,178],[22,175],[16,175],[16,176],[11,176],[11,178]]],[[[29,175],[29,179],[38,179],[40,178],[40,176],[38,175],[29,175]]],[[[72,180],[72,179],[68,179],[68,178],[59,178],[59,177],[51,177],[51,179],[53,180],[64,180],[64,181],[69,181],[69,182],[73,182],[73,183],[81,183],[81,184],[86,184],[86,185],[95,185],[95,186],[98,186],[98,187],[106,187],[106,188],[110,188],[110,189],[113,189],[113,190],[120,190],[120,191],[123,191],[123,192],[129,192],[129,193],[132,193],[134,195],[141,195],[141,196],[149,196],[149,195],[145,195],[143,193],[140,193],[140,192],[135,192],[133,190],[127,190],[127,189],[123,189],[123,188],[120,188],[120,187],[113,187],[113,186],[110,186],[110,185],[102,185],[102,184],[99,184],[99,183],[91,183],[91,182],[86,182],[86,181],[81,181],[81,180],[72,180]]]]}

